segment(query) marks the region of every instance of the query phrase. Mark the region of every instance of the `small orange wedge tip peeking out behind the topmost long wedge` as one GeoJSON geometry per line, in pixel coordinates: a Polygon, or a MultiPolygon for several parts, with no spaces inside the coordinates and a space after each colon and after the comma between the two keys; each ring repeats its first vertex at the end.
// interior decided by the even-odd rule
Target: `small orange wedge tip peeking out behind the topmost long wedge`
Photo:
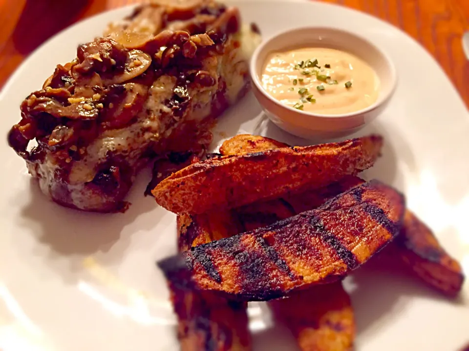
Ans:
{"type": "Polygon", "coordinates": [[[239,155],[251,152],[261,152],[282,147],[290,147],[280,141],[251,134],[239,134],[225,140],[220,147],[220,154],[223,156],[239,155]]]}

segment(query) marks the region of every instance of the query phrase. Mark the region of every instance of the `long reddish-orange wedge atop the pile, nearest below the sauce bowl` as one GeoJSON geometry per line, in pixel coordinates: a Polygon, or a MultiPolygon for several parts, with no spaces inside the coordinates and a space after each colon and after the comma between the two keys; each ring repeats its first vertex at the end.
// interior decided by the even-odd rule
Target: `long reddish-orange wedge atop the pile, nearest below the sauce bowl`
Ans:
{"type": "Polygon", "coordinates": [[[374,163],[382,142],[382,137],[372,135],[340,143],[216,157],[169,176],[152,194],[158,204],[174,213],[235,208],[312,184],[318,189],[357,174],[374,163]]]}

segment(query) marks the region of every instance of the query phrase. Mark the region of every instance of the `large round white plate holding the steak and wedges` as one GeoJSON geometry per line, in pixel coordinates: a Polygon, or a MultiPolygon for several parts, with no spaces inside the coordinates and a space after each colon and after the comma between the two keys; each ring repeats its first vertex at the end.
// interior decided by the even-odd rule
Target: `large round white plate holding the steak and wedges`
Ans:
{"type": "MultiPolygon", "coordinates": [[[[295,26],[334,25],[365,35],[389,53],[400,81],[388,109],[368,128],[384,135],[385,147],[366,176],[404,191],[408,206],[469,273],[469,114],[437,63],[396,28],[342,7],[235,4],[265,37],[295,26]]],[[[77,44],[130,11],[123,8],[78,23],[31,55],[0,95],[4,136],[20,119],[21,100],[42,86],[57,63],[73,58],[77,44]]],[[[219,139],[246,131],[306,143],[268,122],[252,96],[227,113],[217,129],[219,139]]],[[[176,251],[175,216],[142,196],[148,172],[133,188],[126,214],[81,213],[40,194],[5,139],[0,150],[0,349],[177,350],[168,291],[154,265],[176,251]]],[[[456,351],[469,342],[468,284],[461,298],[451,302],[418,281],[372,265],[347,279],[357,350],[456,351]]],[[[283,327],[272,328],[263,304],[251,306],[250,313],[255,350],[296,350],[283,327]]]]}

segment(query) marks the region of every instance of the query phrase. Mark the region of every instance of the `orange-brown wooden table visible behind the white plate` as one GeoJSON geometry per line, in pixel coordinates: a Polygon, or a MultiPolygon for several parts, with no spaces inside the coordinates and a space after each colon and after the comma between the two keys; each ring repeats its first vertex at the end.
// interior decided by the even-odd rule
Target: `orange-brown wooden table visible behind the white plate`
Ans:
{"type": "MultiPolygon", "coordinates": [[[[407,32],[440,63],[469,108],[469,61],[461,45],[469,30],[469,0],[322,1],[369,13],[407,32]]],[[[0,0],[0,87],[53,34],[98,12],[136,2],[141,0],[0,0]]]]}

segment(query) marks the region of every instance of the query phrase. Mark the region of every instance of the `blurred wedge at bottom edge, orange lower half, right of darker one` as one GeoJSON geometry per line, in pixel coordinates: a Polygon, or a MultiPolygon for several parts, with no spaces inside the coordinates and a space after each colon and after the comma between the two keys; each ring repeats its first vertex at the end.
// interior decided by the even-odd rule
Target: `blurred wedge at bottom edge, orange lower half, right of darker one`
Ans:
{"type": "Polygon", "coordinates": [[[348,351],[355,338],[350,297],[341,282],[322,284],[269,302],[301,351],[348,351]]]}

